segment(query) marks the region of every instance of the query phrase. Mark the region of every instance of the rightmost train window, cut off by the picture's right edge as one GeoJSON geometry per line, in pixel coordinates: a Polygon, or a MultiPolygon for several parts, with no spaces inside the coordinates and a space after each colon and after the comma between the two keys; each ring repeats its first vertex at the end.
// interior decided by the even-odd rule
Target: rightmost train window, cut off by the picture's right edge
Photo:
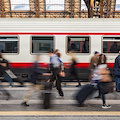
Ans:
{"type": "Polygon", "coordinates": [[[118,53],[120,37],[103,37],[103,53],[118,53]]]}

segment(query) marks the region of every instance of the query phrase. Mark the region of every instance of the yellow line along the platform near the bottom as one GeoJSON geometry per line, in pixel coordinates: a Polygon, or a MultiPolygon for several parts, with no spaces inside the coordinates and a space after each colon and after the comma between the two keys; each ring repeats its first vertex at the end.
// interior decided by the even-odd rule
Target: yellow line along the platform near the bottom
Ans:
{"type": "Polygon", "coordinates": [[[57,116],[57,115],[101,115],[101,116],[120,116],[119,111],[0,111],[0,116],[30,116],[30,115],[43,115],[43,116],[57,116]]]}

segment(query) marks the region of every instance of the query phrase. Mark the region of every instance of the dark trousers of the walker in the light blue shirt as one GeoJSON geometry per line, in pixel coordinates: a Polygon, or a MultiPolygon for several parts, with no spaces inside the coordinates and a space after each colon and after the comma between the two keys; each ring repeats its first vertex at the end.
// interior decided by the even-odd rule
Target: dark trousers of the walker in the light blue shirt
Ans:
{"type": "Polygon", "coordinates": [[[62,78],[59,75],[60,68],[54,68],[52,72],[53,72],[53,74],[51,76],[50,81],[53,83],[56,80],[56,87],[57,87],[58,93],[59,93],[60,96],[64,96],[62,88],[61,88],[61,80],[62,80],[62,78]]]}

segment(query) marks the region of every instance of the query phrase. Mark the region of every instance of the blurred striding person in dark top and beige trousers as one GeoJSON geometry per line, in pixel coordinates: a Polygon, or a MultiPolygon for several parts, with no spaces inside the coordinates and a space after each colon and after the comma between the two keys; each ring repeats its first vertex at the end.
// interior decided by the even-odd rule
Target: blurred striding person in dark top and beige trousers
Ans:
{"type": "Polygon", "coordinates": [[[35,62],[33,64],[33,67],[31,69],[31,78],[30,78],[30,82],[32,83],[31,88],[27,91],[26,95],[24,96],[23,102],[21,103],[21,105],[23,106],[29,106],[27,104],[30,96],[36,92],[39,91],[43,85],[37,84],[37,80],[39,80],[39,75],[51,75],[50,73],[42,73],[39,69],[39,64],[38,61],[40,59],[39,55],[36,56],[35,58],[35,62]]]}

